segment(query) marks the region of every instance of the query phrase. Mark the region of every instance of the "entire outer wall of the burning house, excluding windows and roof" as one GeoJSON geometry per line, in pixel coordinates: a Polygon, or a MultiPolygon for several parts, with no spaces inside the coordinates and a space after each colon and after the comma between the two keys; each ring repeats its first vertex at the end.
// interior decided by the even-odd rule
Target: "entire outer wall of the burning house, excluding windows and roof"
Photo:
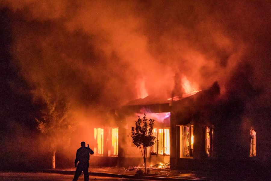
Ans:
{"type": "MultiPolygon", "coordinates": [[[[170,112],[170,125],[155,122],[154,127],[170,127],[170,155],[151,155],[151,149],[147,150],[147,166],[159,162],[170,160],[171,169],[190,169],[190,170],[213,170],[220,169],[252,169],[255,165],[260,165],[266,161],[268,164],[268,149],[265,147],[266,138],[260,131],[263,125],[253,125],[252,123],[242,122],[242,119],[215,119],[210,115],[195,113],[191,102],[183,103],[182,106],[173,104],[170,112]],[[222,121],[227,120],[227,121],[222,121]],[[194,126],[194,153],[193,158],[180,157],[180,125],[187,124],[194,126]],[[206,126],[213,127],[213,156],[208,157],[205,152],[205,129],[206,126]],[[254,127],[257,134],[257,156],[249,157],[250,149],[250,129],[254,127]],[[267,155],[267,156],[266,156],[267,155]],[[259,158],[260,161],[259,162],[259,158]],[[267,159],[266,159],[267,158],[267,159]],[[263,161],[262,161],[263,160],[263,161]]],[[[157,110],[163,106],[159,106],[157,110]]],[[[137,109],[140,107],[137,106],[137,109]]],[[[166,110],[169,110],[168,107],[166,110]]],[[[108,157],[108,146],[104,147],[104,156],[92,157],[91,164],[98,166],[143,166],[142,154],[138,148],[132,144],[131,126],[136,121],[135,112],[132,110],[122,112],[118,116],[117,127],[119,128],[118,156],[108,157]]],[[[104,138],[106,139],[106,138],[104,138]]],[[[106,143],[106,140],[104,140],[106,143]]],[[[107,144],[110,144],[109,142],[107,144]]],[[[270,163],[270,162],[269,162],[270,163]]],[[[259,167],[258,167],[259,168],[259,167]]]]}

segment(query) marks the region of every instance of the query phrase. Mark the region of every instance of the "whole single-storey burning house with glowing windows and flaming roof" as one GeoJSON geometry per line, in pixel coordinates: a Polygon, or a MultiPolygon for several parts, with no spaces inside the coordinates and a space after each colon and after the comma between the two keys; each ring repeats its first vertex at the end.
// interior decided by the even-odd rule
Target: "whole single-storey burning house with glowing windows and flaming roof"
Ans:
{"type": "Polygon", "coordinates": [[[227,113],[218,111],[222,104],[217,103],[219,96],[220,87],[215,82],[207,90],[184,97],[149,95],[130,101],[116,112],[115,126],[93,130],[93,164],[142,166],[142,154],[132,143],[131,127],[138,116],[147,113],[147,118],[155,119],[156,137],[147,150],[147,166],[170,162],[172,169],[210,170],[240,163],[250,167],[257,156],[257,130],[247,125],[245,136],[243,130],[238,131],[240,135],[229,132],[232,125],[220,121],[227,113]]]}

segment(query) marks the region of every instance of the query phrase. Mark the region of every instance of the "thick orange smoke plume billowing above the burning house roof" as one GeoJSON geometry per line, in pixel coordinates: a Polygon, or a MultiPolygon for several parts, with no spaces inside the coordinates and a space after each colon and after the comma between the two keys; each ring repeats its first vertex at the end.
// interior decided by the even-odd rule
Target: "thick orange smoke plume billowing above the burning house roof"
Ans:
{"type": "Polygon", "coordinates": [[[148,94],[170,98],[180,87],[176,74],[201,89],[218,81],[224,99],[242,103],[244,121],[270,124],[269,1],[27,0],[0,7],[11,63],[33,104],[68,108],[66,121],[84,132],[84,123],[110,122],[110,110],[136,99],[138,80],[148,94]]]}

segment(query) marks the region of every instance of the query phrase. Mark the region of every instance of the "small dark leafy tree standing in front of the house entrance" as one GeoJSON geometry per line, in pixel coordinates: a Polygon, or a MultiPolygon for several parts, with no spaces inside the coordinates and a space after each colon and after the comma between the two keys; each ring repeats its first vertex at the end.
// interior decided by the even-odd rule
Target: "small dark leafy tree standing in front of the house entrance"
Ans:
{"type": "Polygon", "coordinates": [[[142,157],[144,159],[145,173],[146,173],[146,150],[154,144],[155,136],[153,136],[152,130],[154,125],[154,119],[146,119],[144,114],[143,119],[138,116],[136,121],[136,127],[132,127],[132,140],[133,144],[140,148],[142,157]],[[149,122],[148,122],[149,121],[149,122]]]}

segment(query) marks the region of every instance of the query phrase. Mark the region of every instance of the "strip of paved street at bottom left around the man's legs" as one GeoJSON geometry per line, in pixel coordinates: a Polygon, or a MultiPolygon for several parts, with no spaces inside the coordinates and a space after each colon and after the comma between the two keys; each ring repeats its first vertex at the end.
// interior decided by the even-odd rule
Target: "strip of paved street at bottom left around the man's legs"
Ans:
{"type": "MultiPolygon", "coordinates": [[[[73,175],[61,175],[55,173],[22,173],[22,172],[0,172],[1,181],[72,181],[73,175]]],[[[83,181],[84,176],[80,176],[78,181],[83,181]]],[[[128,180],[110,177],[89,176],[89,180],[128,180]]]]}

